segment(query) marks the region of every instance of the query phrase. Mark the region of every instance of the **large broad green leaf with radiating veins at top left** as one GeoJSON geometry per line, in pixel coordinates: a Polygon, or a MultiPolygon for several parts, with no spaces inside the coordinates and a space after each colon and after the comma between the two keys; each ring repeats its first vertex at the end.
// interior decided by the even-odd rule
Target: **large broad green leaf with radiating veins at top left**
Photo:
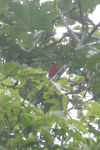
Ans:
{"type": "Polygon", "coordinates": [[[39,1],[27,1],[25,5],[20,3],[8,3],[9,7],[14,11],[16,16],[14,19],[17,23],[13,28],[30,30],[46,30],[51,31],[53,24],[50,23],[51,19],[56,17],[56,10],[52,3],[46,2],[41,6],[39,1]],[[49,12],[49,13],[48,13],[49,12]]]}

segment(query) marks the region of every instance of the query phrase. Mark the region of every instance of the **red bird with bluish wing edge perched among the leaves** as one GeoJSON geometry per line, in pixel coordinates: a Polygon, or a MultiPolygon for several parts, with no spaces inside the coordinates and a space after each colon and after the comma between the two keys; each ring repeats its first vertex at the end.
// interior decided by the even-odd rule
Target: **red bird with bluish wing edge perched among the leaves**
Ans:
{"type": "Polygon", "coordinates": [[[50,68],[49,68],[49,78],[52,78],[58,71],[60,67],[58,67],[58,64],[56,62],[52,62],[50,68]]]}

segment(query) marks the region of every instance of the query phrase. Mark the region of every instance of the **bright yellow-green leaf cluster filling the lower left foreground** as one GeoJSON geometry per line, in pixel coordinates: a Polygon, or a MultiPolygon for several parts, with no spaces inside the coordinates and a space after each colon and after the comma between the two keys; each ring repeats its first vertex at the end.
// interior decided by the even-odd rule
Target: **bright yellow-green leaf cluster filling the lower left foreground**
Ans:
{"type": "Polygon", "coordinates": [[[64,115],[67,114],[68,97],[56,88],[54,94],[51,94],[52,84],[43,76],[45,73],[41,69],[25,68],[11,62],[1,64],[0,71],[1,148],[6,149],[6,145],[7,149],[63,149],[67,144],[54,144],[56,138],[59,142],[62,141],[61,136],[63,142],[71,137],[83,141],[77,129],[77,137],[74,135],[74,131],[70,129],[71,120],[64,115]],[[20,84],[13,89],[15,81],[20,84]]]}

